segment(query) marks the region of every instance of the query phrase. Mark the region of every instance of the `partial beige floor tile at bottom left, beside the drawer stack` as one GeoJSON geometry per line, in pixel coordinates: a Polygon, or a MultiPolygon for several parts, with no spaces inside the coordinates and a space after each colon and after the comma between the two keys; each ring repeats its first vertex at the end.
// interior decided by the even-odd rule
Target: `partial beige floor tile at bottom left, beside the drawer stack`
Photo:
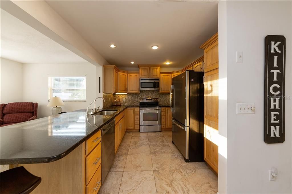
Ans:
{"type": "Polygon", "coordinates": [[[98,194],[117,194],[121,185],[123,172],[109,172],[98,194]]]}

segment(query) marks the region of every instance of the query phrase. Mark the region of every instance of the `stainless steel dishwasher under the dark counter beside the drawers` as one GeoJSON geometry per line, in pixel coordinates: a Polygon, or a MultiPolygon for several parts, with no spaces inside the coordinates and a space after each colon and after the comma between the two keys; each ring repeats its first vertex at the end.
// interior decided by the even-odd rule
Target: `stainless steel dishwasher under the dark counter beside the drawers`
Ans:
{"type": "Polygon", "coordinates": [[[115,119],[101,128],[101,183],[114,162],[114,123],[115,119]]]}

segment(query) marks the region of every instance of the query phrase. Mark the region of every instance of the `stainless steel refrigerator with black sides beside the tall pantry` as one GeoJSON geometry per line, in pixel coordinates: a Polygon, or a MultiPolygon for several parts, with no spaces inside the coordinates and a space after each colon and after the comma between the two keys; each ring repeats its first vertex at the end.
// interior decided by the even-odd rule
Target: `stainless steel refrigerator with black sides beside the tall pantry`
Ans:
{"type": "Polygon", "coordinates": [[[186,162],[204,161],[204,72],[186,70],[172,78],[172,143],[186,162]]]}

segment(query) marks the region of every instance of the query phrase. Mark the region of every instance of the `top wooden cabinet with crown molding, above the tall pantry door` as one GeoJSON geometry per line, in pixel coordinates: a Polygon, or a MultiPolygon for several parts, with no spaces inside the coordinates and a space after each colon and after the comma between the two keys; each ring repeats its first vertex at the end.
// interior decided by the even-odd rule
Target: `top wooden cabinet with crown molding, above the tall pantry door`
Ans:
{"type": "Polygon", "coordinates": [[[219,67],[218,57],[218,32],[200,47],[204,49],[204,71],[210,71],[219,67]]]}

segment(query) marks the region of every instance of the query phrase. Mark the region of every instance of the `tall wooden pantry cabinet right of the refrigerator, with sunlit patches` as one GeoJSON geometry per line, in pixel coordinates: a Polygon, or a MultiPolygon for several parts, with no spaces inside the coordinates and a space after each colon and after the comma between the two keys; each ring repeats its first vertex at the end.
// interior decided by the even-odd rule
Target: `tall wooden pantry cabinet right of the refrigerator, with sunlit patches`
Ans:
{"type": "Polygon", "coordinates": [[[218,173],[218,33],[204,49],[204,160],[218,173]]]}

